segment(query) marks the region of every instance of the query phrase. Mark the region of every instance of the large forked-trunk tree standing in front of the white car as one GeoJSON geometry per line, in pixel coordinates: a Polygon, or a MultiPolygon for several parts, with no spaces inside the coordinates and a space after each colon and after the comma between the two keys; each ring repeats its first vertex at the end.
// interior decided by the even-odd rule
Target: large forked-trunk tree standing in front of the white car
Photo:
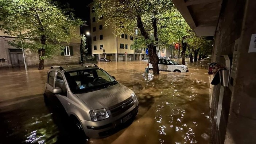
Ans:
{"type": "MultiPolygon", "coordinates": [[[[136,35],[140,44],[148,48],[153,73],[159,74],[156,47],[159,42],[159,29],[166,26],[172,17],[169,15],[173,4],[170,0],[95,0],[96,16],[105,19],[105,27],[112,27],[116,36],[122,33],[136,35]],[[140,36],[139,36],[140,35],[140,36]]],[[[137,48],[133,45],[133,48],[137,48]]]]}

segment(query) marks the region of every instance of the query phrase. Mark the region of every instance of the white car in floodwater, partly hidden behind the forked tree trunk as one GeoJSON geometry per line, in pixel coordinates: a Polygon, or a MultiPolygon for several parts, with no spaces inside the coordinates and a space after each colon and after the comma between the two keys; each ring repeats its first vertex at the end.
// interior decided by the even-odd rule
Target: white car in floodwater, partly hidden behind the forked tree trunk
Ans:
{"type": "MultiPolygon", "coordinates": [[[[189,72],[189,69],[187,68],[186,65],[183,64],[178,64],[174,60],[159,60],[159,71],[168,71],[168,72],[189,72]]],[[[149,63],[148,66],[149,70],[152,70],[152,64],[149,63]]]]}

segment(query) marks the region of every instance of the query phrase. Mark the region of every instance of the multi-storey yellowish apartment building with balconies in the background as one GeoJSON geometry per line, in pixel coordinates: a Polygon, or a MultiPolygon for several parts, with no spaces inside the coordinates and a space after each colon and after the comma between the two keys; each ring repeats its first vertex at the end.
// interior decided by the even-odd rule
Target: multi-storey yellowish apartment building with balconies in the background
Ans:
{"type": "Polygon", "coordinates": [[[106,57],[112,61],[142,60],[146,57],[146,49],[131,49],[133,36],[122,34],[116,37],[112,28],[104,27],[104,17],[98,21],[93,10],[93,3],[90,7],[92,55],[97,59],[106,57]]]}

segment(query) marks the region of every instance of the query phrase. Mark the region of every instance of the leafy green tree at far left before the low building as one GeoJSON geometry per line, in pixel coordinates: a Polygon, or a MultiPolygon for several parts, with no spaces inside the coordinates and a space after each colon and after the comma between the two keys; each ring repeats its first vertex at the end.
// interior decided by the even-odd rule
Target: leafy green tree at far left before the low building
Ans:
{"type": "MultiPolygon", "coordinates": [[[[51,58],[77,36],[73,32],[82,23],[71,11],[65,11],[50,0],[0,0],[0,29],[23,38],[23,47],[39,56],[38,69],[44,69],[44,59],[51,58]]],[[[19,39],[9,44],[20,48],[19,39]]]]}

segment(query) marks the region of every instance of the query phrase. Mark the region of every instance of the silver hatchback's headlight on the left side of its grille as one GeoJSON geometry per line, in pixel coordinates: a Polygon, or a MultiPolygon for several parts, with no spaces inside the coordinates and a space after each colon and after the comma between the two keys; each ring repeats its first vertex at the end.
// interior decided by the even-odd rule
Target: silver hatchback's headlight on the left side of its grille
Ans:
{"type": "Polygon", "coordinates": [[[105,108],[90,111],[92,121],[99,121],[109,118],[105,108]]]}

